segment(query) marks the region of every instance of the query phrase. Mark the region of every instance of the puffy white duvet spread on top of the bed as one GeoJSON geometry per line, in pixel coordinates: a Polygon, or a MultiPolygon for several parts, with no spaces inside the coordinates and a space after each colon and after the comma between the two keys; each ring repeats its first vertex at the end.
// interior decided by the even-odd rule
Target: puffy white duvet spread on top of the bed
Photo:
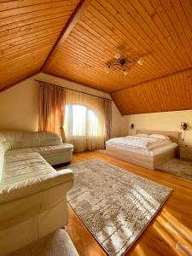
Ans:
{"type": "Polygon", "coordinates": [[[131,147],[131,148],[143,148],[146,150],[152,150],[160,146],[164,146],[167,143],[171,143],[169,139],[164,140],[156,137],[137,137],[137,136],[127,136],[127,137],[114,137],[106,142],[108,146],[120,145],[121,147],[131,147]]]}

